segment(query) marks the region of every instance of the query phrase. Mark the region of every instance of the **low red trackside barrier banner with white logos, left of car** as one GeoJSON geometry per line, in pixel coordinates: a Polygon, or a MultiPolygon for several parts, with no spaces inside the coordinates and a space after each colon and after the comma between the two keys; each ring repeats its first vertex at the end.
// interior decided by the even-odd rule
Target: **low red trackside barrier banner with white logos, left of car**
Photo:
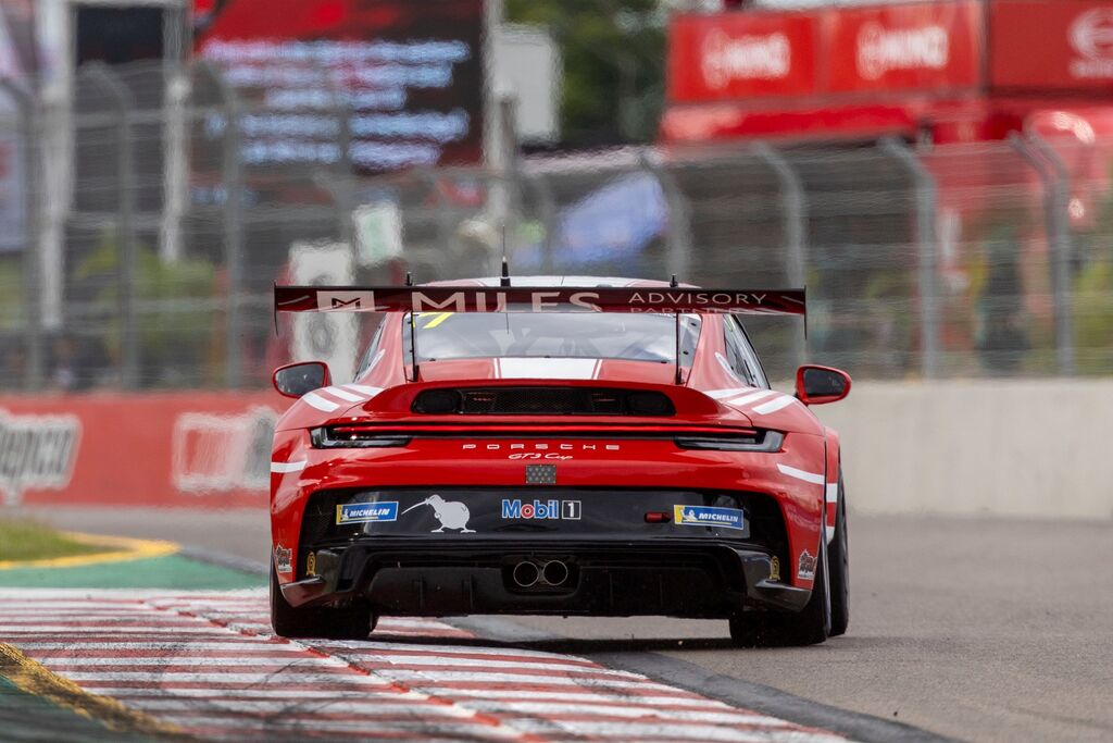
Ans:
{"type": "Polygon", "coordinates": [[[0,398],[7,505],[263,508],[275,392],[0,398]]]}

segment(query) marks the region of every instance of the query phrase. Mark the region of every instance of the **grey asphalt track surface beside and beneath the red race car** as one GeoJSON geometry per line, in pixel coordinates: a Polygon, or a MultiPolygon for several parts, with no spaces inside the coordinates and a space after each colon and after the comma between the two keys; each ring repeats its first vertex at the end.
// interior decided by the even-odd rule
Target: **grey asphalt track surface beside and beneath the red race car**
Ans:
{"type": "MultiPolygon", "coordinates": [[[[267,557],[258,512],[33,512],[248,564],[267,557]]],[[[1113,740],[1113,522],[851,515],[850,548],[850,629],[816,647],[733,648],[723,622],[513,617],[462,626],[859,740],[1113,740]]]]}

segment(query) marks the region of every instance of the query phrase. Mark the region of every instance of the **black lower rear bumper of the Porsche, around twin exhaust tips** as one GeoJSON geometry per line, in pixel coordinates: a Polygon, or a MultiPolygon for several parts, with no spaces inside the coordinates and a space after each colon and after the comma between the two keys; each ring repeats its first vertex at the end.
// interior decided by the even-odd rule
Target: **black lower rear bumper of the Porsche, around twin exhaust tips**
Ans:
{"type": "MultiPolygon", "coordinates": [[[[770,580],[759,546],[710,539],[522,540],[384,538],[323,547],[315,573],[282,586],[293,606],[370,600],[380,614],[553,614],[727,617],[749,608],[799,612],[810,592],[770,580]],[[522,560],[561,560],[560,586],[523,588],[522,560]]],[[[784,570],[784,566],[781,566],[784,570]]]]}

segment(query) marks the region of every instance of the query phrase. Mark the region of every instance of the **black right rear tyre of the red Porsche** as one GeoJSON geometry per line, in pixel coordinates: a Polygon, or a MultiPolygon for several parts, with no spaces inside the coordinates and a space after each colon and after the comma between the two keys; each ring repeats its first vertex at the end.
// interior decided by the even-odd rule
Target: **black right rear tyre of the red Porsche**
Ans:
{"type": "Polygon", "coordinates": [[[811,597],[797,614],[750,612],[730,617],[730,638],[739,647],[788,647],[818,645],[827,639],[831,628],[831,604],[828,600],[827,535],[819,534],[819,571],[811,597]]]}

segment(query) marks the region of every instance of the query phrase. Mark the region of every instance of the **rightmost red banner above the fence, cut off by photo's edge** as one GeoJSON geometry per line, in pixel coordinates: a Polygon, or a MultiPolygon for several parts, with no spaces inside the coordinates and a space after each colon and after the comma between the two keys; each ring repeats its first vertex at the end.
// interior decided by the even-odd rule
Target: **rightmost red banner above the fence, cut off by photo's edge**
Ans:
{"type": "Polygon", "coordinates": [[[989,6],[989,82],[1012,90],[1113,90],[1113,3],[989,6]]]}

